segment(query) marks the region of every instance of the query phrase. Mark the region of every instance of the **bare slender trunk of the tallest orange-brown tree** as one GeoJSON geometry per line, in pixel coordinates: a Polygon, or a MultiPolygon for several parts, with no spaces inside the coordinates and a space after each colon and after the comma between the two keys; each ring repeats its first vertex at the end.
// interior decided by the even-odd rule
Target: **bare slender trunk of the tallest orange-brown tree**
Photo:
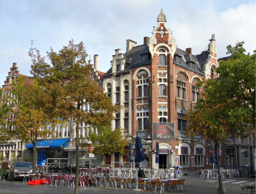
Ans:
{"type": "Polygon", "coordinates": [[[75,178],[75,194],[78,194],[79,187],[79,124],[76,124],[76,178],[75,178]]]}

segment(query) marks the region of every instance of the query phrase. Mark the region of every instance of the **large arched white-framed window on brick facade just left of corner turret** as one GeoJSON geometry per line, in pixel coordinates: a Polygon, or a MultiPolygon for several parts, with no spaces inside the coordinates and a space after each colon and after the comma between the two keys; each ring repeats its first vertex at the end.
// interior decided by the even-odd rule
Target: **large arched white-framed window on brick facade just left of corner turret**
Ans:
{"type": "Polygon", "coordinates": [[[140,71],[137,75],[138,97],[148,97],[148,73],[140,71]]]}

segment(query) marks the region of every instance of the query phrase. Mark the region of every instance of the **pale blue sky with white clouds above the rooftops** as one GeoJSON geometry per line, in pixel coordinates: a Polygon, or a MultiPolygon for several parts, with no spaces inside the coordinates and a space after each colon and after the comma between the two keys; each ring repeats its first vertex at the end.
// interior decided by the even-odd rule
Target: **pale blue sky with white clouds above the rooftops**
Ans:
{"type": "Polygon", "coordinates": [[[84,42],[98,70],[106,72],[115,49],[125,52],[126,40],[143,44],[152,36],[161,8],[166,26],[177,47],[191,47],[193,54],[207,49],[215,34],[218,57],[227,56],[227,45],[245,41],[244,48],[256,49],[256,6],[250,0],[1,0],[0,1],[0,86],[17,63],[20,73],[30,75],[33,47],[43,55],[58,52],[74,39],[84,42]]]}

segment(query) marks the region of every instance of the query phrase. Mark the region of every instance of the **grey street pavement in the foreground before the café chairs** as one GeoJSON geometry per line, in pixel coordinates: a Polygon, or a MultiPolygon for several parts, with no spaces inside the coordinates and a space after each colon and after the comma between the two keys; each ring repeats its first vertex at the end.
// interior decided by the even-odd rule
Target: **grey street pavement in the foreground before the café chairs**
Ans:
{"type": "MultiPolygon", "coordinates": [[[[178,193],[184,194],[213,194],[218,188],[218,179],[200,179],[199,175],[184,175],[180,178],[185,179],[185,190],[178,193]]],[[[240,184],[255,182],[255,178],[234,178],[223,179],[223,186],[227,189],[227,194],[241,194],[240,184]]],[[[20,181],[0,181],[0,194],[68,194],[74,193],[73,187],[51,186],[51,185],[27,185],[20,181]]],[[[79,193],[97,194],[130,194],[130,193],[154,193],[152,191],[133,191],[129,189],[112,188],[79,188],[79,193]]],[[[159,192],[158,192],[159,193],[159,192]]],[[[165,192],[164,192],[165,193],[165,192]]]]}

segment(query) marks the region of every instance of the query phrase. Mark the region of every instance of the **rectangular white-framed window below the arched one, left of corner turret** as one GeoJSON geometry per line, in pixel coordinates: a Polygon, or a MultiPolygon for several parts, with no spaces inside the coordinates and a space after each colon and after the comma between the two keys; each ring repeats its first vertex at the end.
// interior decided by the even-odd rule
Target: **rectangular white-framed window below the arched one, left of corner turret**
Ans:
{"type": "Polygon", "coordinates": [[[148,108],[137,109],[138,130],[148,130],[148,108]]]}

